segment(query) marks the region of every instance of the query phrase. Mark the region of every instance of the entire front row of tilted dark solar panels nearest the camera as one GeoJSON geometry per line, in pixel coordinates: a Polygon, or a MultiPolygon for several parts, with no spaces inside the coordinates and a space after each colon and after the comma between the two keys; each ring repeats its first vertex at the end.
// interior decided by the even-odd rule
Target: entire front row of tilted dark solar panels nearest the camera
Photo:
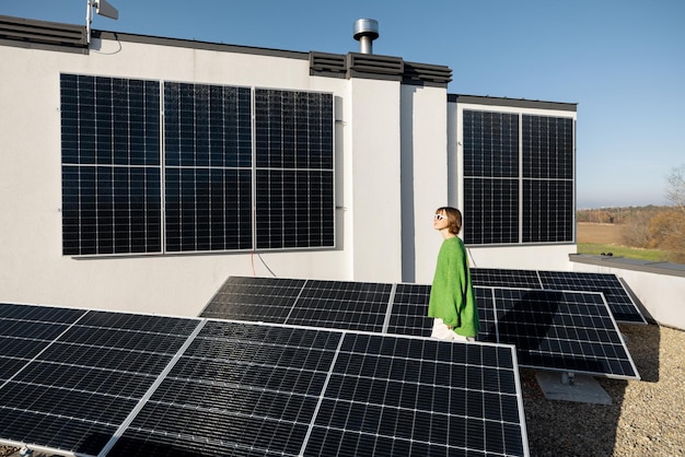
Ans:
{"type": "Polygon", "coordinates": [[[511,345],[28,305],[0,305],[0,328],[34,343],[0,355],[19,366],[0,384],[1,443],[83,456],[529,454],[511,345]]]}

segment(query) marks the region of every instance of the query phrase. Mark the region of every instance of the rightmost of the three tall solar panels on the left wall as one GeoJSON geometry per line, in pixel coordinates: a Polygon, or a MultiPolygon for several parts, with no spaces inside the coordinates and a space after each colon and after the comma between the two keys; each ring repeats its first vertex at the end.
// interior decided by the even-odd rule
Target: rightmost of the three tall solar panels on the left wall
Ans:
{"type": "Polygon", "coordinates": [[[335,246],[333,95],[255,90],[256,246],[335,246]]]}

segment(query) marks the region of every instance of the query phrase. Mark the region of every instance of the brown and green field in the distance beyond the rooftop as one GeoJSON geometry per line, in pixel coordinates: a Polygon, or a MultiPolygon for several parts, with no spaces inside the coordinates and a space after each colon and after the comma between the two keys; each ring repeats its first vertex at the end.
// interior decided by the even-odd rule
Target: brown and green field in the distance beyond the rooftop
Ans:
{"type": "Polygon", "coordinates": [[[631,259],[662,261],[665,253],[657,249],[638,249],[620,245],[620,225],[578,223],[579,254],[608,254],[631,259]]]}

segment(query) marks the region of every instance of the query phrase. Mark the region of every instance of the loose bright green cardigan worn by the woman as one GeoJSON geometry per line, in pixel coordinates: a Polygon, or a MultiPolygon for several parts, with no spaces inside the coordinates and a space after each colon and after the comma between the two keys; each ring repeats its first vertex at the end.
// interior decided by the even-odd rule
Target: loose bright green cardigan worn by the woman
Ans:
{"type": "Polygon", "coordinates": [[[475,337],[480,329],[466,248],[458,236],[440,247],[428,316],[441,318],[462,337],[475,337]]]}

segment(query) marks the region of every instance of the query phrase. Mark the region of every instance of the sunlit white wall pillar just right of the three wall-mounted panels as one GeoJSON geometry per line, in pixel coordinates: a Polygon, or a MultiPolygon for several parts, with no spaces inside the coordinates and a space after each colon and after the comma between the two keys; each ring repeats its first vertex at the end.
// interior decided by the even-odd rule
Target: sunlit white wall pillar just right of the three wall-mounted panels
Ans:
{"type": "MultiPolygon", "coordinates": [[[[352,279],[402,277],[399,82],[349,81],[352,279]]],[[[347,238],[346,238],[347,244],[347,238]]]]}

